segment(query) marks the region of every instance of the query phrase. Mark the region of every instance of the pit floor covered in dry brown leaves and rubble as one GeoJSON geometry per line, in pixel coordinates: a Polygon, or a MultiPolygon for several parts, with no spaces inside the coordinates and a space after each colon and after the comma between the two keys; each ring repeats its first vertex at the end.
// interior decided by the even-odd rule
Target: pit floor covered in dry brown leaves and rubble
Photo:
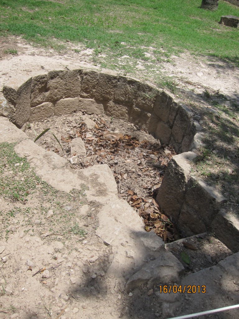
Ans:
{"type": "Polygon", "coordinates": [[[46,134],[36,143],[67,158],[72,167],[107,164],[117,183],[118,196],[137,211],[147,232],[154,231],[164,242],[181,238],[156,202],[164,171],[176,154],[172,146],[161,145],[137,126],[106,115],[76,112],[25,127],[25,133],[33,140],[44,130],[46,134]],[[74,151],[72,144],[76,139],[83,141],[85,152],[74,151]]]}

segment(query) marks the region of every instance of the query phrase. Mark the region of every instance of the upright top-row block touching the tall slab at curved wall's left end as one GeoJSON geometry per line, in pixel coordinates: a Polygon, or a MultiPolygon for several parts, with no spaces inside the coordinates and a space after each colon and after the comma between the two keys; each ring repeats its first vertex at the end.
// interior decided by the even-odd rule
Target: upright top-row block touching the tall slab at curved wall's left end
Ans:
{"type": "Polygon", "coordinates": [[[47,75],[42,74],[33,77],[31,87],[31,107],[35,107],[46,101],[47,75]]]}

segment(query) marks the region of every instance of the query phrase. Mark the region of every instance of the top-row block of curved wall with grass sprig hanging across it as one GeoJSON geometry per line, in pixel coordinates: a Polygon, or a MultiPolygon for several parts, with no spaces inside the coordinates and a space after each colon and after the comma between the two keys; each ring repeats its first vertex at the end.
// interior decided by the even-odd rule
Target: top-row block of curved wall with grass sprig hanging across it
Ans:
{"type": "Polygon", "coordinates": [[[151,112],[159,91],[148,84],[139,84],[136,90],[137,99],[135,106],[151,112]]]}

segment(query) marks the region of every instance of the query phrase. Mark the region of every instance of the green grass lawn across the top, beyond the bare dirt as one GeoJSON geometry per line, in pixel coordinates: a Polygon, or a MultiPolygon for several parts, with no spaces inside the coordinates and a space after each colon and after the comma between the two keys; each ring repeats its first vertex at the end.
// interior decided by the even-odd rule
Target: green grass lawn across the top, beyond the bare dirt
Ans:
{"type": "Polygon", "coordinates": [[[217,11],[207,11],[200,4],[201,0],[0,0],[0,34],[21,35],[58,49],[65,41],[81,42],[114,57],[126,54],[142,60],[148,59],[142,46],[156,48],[158,61],[186,49],[239,65],[238,29],[218,24],[222,15],[239,16],[239,8],[219,1],[217,11]]]}

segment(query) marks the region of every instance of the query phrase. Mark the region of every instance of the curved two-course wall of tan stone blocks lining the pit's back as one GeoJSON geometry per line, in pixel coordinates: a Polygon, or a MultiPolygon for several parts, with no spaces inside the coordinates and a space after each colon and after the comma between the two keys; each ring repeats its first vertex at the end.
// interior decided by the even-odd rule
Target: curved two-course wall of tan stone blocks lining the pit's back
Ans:
{"type": "Polygon", "coordinates": [[[176,152],[191,150],[196,125],[190,110],[170,93],[137,79],[94,70],[50,71],[25,83],[6,83],[11,122],[26,122],[53,115],[86,111],[132,122],[170,144],[176,152]]]}

